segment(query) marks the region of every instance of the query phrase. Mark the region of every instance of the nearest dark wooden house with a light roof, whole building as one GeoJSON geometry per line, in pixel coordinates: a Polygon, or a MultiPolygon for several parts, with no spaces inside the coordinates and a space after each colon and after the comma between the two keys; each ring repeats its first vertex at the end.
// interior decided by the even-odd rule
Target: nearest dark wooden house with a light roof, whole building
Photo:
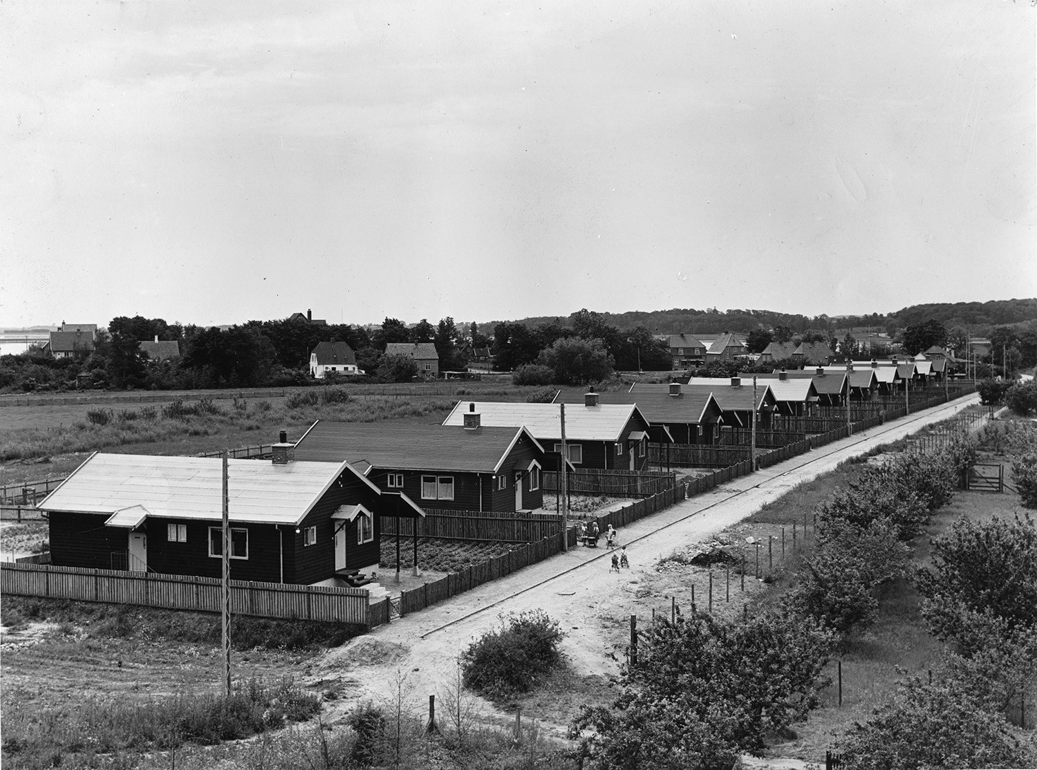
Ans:
{"type": "MultiPolygon", "coordinates": [[[[229,460],[230,576],[338,584],[377,567],[382,516],[421,516],[347,462],[229,460]]],[[[51,562],[219,577],[220,458],[94,454],[37,507],[50,519],[51,562]]]]}

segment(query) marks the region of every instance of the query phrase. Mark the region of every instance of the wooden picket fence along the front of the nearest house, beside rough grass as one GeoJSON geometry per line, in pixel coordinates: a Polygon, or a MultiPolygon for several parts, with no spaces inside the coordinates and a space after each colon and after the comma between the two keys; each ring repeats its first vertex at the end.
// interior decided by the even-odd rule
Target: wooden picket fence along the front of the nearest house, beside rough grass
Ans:
{"type": "MultiPolygon", "coordinates": [[[[220,579],[4,562],[0,593],[51,599],[221,611],[220,579]]],[[[370,626],[366,589],[230,581],[230,611],[257,618],[370,626]]]]}

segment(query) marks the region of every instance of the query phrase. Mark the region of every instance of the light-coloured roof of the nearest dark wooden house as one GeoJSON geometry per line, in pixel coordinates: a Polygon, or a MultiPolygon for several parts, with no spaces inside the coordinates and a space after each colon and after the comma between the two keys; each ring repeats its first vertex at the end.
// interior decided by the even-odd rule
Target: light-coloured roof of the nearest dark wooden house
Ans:
{"type": "MultiPolygon", "coordinates": [[[[275,465],[261,460],[229,460],[230,520],[298,523],[343,470],[353,468],[346,462],[275,465]]],[[[37,508],[115,514],[140,506],[148,516],[213,520],[222,517],[222,494],[219,457],[97,453],[37,508]]]]}

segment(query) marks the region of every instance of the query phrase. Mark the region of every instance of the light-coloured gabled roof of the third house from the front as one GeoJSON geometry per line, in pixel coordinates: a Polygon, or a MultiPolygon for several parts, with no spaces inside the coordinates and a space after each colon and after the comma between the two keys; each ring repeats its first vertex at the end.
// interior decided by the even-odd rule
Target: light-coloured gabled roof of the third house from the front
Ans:
{"type": "MultiPolygon", "coordinates": [[[[459,401],[443,421],[444,425],[459,426],[469,404],[475,403],[484,426],[525,426],[539,441],[562,437],[560,404],[509,403],[504,401],[459,401]]],[[[565,438],[573,441],[618,441],[630,419],[648,425],[648,420],[634,404],[600,404],[584,406],[566,404],[565,438]]]]}

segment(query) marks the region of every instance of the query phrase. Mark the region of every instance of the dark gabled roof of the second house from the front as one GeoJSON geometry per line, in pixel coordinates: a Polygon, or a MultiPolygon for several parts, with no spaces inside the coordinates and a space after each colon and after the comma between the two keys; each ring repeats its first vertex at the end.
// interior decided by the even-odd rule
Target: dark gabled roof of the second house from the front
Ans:
{"type": "Polygon", "coordinates": [[[349,460],[365,475],[372,467],[499,474],[511,469],[508,455],[523,436],[543,452],[532,434],[518,426],[465,430],[442,425],[318,420],[296,444],[296,459],[349,460]]]}

